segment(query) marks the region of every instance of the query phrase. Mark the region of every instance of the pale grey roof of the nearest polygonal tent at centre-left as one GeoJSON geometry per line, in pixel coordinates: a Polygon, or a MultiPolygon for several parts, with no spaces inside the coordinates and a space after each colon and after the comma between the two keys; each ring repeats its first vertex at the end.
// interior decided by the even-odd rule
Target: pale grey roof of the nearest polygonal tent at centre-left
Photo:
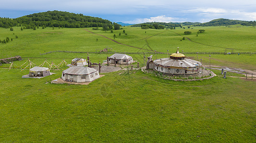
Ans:
{"type": "Polygon", "coordinates": [[[97,70],[89,67],[82,67],[82,66],[72,66],[68,68],[67,70],[64,70],[63,73],[66,74],[74,74],[74,75],[87,75],[93,72],[96,72],[97,70]]]}

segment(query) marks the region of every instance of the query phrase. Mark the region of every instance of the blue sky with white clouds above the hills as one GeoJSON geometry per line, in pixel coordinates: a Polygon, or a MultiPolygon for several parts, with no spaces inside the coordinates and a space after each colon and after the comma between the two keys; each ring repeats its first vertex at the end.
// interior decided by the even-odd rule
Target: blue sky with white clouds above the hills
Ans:
{"type": "Polygon", "coordinates": [[[0,17],[48,10],[82,13],[112,22],[256,20],[256,0],[1,0],[0,17]]]}

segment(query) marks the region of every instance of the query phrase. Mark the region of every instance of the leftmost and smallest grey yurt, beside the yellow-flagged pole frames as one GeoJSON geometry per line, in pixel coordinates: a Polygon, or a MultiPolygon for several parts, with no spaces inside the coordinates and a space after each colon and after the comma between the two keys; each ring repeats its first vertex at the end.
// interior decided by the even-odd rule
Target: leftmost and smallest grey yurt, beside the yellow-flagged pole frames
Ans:
{"type": "Polygon", "coordinates": [[[30,77],[45,77],[51,75],[50,70],[45,67],[33,67],[29,70],[29,76],[30,77]]]}

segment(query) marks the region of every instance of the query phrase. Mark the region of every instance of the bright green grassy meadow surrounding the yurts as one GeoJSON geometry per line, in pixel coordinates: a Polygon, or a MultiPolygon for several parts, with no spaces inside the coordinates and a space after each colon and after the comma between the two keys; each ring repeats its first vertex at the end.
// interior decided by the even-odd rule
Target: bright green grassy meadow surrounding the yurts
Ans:
{"type": "MultiPolygon", "coordinates": [[[[256,142],[256,84],[253,80],[217,77],[204,81],[175,82],[141,71],[105,74],[89,85],[50,84],[61,71],[41,79],[23,79],[28,58],[36,65],[47,59],[58,64],[87,53],[112,48],[116,52],[151,52],[145,56],[166,58],[177,47],[186,52],[256,52],[254,27],[190,27],[176,30],[87,30],[52,28],[20,30],[0,28],[0,58],[20,55],[23,61],[0,66],[0,142],[256,142]],[[193,29],[191,29],[193,28],[193,29]],[[204,29],[204,33],[197,31],[204,29]],[[184,31],[192,31],[184,35],[184,31]],[[121,35],[119,36],[119,33],[121,35]],[[113,35],[117,38],[114,39],[113,35]],[[15,36],[18,38],[15,38],[15,36]],[[189,38],[182,40],[183,37],[189,38]],[[96,41],[98,39],[98,41],[96,41]],[[181,41],[182,40],[182,41],[181,41]],[[194,42],[193,42],[194,41],[194,42]],[[155,54],[153,51],[165,52],[155,54]],[[229,51],[227,51],[229,52],[229,51]],[[41,54],[40,54],[41,53],[41,54]]],[[[101,29],[101,28],[99,28],[101,29]]],[[[89,53],[92,62],[106,60],[107,53],[89,53]]],[[[143,54],[131,54],[143,65],[143,54]]],[[[187,54],[197,60],[196,54],[187,54]]],[[[204,65],[209,55],[198,54],[204,65]]],[[[211,55],[212,66],[256,70],[255,54],[211,55]]],[[[67,67],[62,67],[66,69],[67,67]]],[[[229,73],[228,76],[240,76],[229,73]]]]}

